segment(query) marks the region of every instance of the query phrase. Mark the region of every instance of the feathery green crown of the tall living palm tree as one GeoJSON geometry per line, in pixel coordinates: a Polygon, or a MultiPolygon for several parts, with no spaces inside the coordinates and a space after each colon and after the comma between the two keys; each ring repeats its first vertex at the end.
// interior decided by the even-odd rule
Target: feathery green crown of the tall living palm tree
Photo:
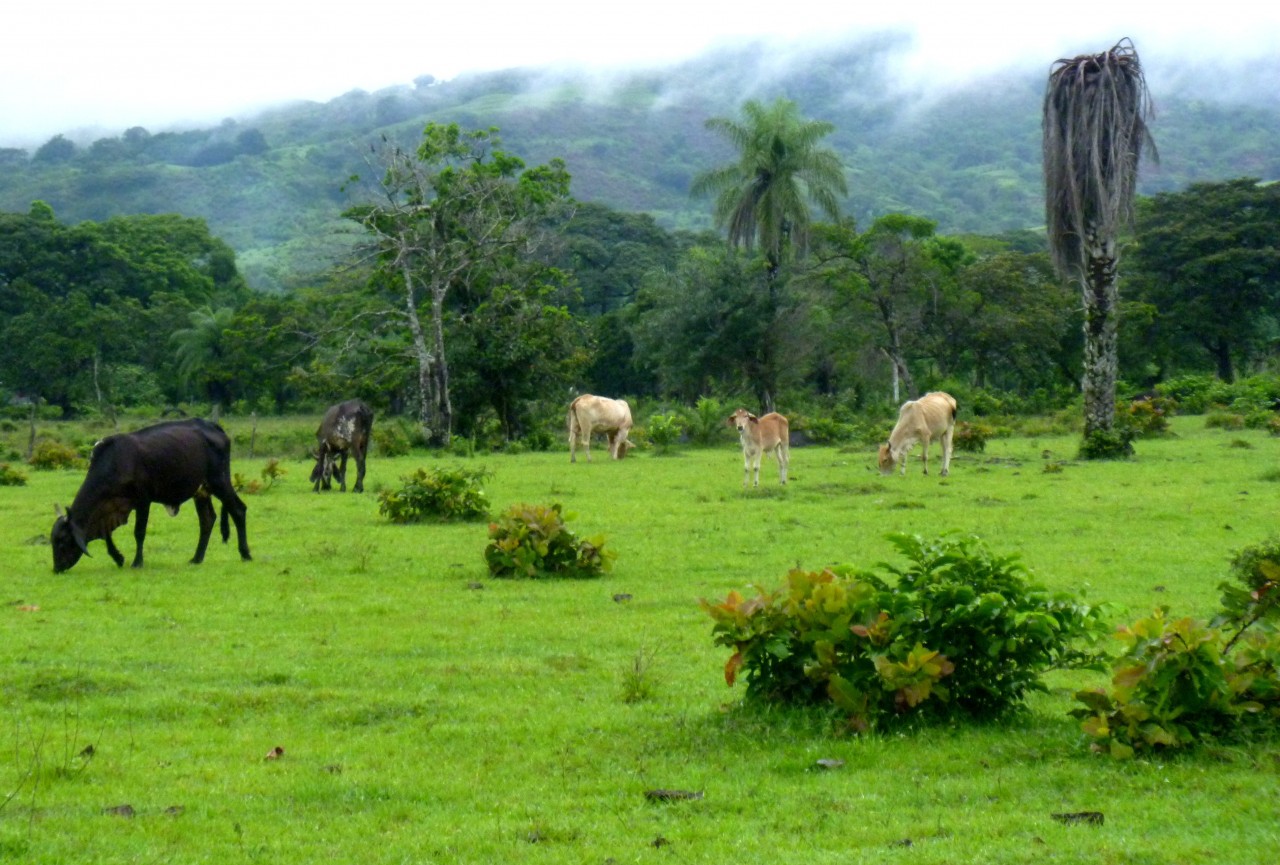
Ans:
{"type": "Polygon", "coordinates": [[[805,120],[796,104],[750,100],[742,120],[712,118],[707,128],[723,134],[739,151],[732,165],[694,178],[694,194],[716,196],[717,225],[728,229],[732,246],[760,244],[769,276],[791,250],[809,239],[812,200],[828,218],[838,219],[836,193],[846,194],[844,166],[836,152],[818,142],[835,127],[805,120]]]}

